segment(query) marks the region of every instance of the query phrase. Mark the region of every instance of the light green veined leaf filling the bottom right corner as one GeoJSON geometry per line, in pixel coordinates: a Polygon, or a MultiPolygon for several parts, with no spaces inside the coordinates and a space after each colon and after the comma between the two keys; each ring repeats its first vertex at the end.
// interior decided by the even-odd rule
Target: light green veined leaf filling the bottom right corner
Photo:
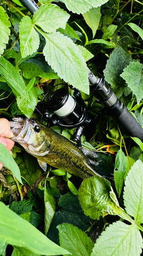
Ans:
{"type": "Polygon", "coordinates": [[[94,245],[91,256],[140,256],[142,238],[135,225],[115,222],[102,232],[94,245]]]}

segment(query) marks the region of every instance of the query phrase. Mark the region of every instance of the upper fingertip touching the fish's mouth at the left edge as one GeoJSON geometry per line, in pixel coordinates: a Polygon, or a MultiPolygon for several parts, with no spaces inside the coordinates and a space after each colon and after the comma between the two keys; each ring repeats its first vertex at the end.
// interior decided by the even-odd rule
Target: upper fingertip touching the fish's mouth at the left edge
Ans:
{"type": "Polygon", "coordinates": [[[9,138],[13,137],[13,132],[10,130],[10,122],[6,118],[0,119],[0,135],[9,138]]]}

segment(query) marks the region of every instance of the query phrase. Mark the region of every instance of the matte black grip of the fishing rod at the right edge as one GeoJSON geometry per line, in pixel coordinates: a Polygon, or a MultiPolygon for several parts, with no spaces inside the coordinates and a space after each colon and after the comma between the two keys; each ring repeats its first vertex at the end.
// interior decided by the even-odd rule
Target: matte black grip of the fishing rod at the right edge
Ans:
{"type": "Polygon", "coordinates": [[[117,121],[125,128],[129,136],[139,138],[143,142],[143,129],[126,106],[117,121]]]}

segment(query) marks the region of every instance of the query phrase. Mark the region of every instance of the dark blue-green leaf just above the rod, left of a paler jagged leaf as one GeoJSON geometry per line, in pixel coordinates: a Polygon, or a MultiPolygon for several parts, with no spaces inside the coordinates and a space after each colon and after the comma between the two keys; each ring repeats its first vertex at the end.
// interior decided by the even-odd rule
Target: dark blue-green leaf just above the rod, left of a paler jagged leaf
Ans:
{"type": "Polygon", "coordinates": [[[123,87],[124,80],[120,76],[123,69],[129,65],[131,54],[125,52],[122,47],[117,46],[107,60],[106,68],[104,69],[105,80],[111,84],[111,88],[123,87]]]}

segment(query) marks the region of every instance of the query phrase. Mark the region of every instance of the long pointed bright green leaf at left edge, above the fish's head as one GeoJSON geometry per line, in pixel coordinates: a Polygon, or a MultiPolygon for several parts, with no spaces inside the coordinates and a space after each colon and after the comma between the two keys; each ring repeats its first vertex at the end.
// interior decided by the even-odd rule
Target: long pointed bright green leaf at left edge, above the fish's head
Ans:
{"type": "Polygon", "coordinates": [[[0,74],[5,77],[16,96],[29,100],[25,83],[15,67],[4,57],[0,59],[0,74]]]}

